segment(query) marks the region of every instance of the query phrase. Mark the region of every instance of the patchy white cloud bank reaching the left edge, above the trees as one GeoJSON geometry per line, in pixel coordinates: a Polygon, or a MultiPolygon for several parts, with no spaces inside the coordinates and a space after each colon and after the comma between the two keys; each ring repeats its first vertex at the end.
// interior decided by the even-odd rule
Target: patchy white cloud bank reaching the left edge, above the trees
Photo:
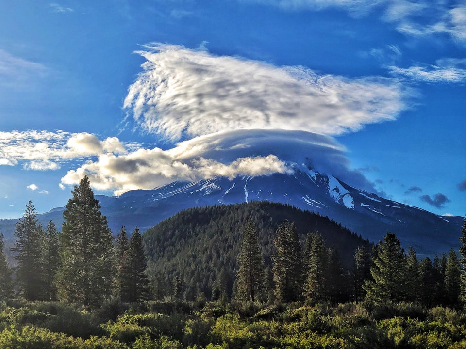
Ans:
{"type": "MultiPolygon", "coordinates": [[[[134,148],[131,144],[130,148],[134,148]]],[[[72,159],[85,159],[100,154],[126,152],[116,137],[100,141],[89,133],[65,131],[0,132],[0,165],[22,164],[26,170],[57,170],[60,164],[72,159]]]]}

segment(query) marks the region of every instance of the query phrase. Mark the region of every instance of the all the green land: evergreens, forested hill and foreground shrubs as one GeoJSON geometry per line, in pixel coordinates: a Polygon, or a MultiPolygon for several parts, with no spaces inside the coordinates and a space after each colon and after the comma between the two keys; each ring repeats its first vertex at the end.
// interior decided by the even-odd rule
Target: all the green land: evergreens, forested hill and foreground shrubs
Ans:
{"type": "Polygon", "coordinates": [[[466,221],[459,254],[433,259],[271,203],[114,238],[87,177],[61,231],[36,216],[13,268],[0,239],[0,348],[466,347],[466,221]]]}

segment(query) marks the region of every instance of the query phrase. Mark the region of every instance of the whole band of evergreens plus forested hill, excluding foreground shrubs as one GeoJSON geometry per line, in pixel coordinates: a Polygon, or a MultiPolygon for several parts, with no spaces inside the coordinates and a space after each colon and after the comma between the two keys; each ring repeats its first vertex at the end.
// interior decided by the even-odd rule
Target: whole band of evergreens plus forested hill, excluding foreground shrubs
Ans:
{"type": "Polygon", "coordinates": [[[433,261],[419,260],[413,248],[405,253],[393,233],[373,246],[327,217],[269,203],[186,210],[149,230],[144,242],[137,228],[128,238],[122,227],[114,239],[87,176],[72,191],[61,232],[51,221],[44,229],[36,216],[29,202],[16,224],[14,278],[0,239],[1,299],[15,290],[28,301],[91,307],[111,299],[427,307],[466,300],[466,222],[461,259],[451,250],[433,261]],[[297,223],[278,225],[283,216],[297,223]],[[340,251],[353,251],[352,258],[340,251]]]}

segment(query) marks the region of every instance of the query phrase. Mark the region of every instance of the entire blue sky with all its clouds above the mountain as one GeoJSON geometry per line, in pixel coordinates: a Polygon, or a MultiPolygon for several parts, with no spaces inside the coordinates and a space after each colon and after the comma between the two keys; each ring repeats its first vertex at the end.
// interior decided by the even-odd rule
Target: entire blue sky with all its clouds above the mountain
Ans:
{"type": "Polygon", "coordinates": [[[465,82],[465,1],[0,1],[0,217],[303,163],[463,216],[465,82]]]}

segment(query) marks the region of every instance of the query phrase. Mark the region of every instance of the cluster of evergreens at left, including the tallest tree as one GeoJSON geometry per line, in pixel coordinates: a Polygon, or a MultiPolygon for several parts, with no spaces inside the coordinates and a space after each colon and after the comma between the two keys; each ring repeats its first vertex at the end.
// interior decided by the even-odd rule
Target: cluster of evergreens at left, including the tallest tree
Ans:
{"type": "Polygon", "coordinates": [[[8,267],[0,236],[1,300],[17,293],[27,301],[98,307],[112,298],[137,302],[149,297],[139,229],[128,239],[122,227],[114,243],[87,176],[72,191],[61,232],[52,221],[44,229],[36,217],[30,201],[15,226],[15,270],[8,267]]]}

